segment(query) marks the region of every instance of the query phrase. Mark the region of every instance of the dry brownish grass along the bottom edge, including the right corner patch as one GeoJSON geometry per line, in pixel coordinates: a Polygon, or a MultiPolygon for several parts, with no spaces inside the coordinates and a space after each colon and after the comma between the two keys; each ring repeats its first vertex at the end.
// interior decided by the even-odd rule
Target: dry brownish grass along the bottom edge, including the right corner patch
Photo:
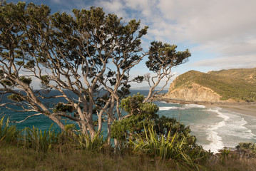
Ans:
{"type": "MultiPolygon", "coordinates": [[[[60,146],[49,152],[0,144],[0,170],[185,170],[172,160],[152,160],[143,154],[114,155],[60,146]]],[[[188,168],[188,170],[192,170],[188,168]]],[[[256,170],[255,158],[232,153],[223,163],[213,157],[200,170],[256,170]]]]}

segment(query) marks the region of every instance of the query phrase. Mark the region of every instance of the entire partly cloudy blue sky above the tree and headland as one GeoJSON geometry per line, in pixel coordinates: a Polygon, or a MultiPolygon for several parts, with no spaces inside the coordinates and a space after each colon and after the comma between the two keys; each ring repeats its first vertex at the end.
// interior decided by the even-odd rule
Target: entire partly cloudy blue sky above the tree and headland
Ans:
{"type": "MultiPolygon", "coordinates": [[[[187,63],[172,69],[176,76],[190,70],[208,72],[256,67],[255,0],[21,0],[46,4],[52,13],[71,14],[72,9],[100,6],[106,14],[124,21],[140,19],[149,26],[143,48],[151,41],[175,44],[178,51],[190,50],[187,63]]],[[[7,2],[14,2],[7,0],[7,2]]],[[[144,63],[131,75],[147,73],[144,63]]]]}

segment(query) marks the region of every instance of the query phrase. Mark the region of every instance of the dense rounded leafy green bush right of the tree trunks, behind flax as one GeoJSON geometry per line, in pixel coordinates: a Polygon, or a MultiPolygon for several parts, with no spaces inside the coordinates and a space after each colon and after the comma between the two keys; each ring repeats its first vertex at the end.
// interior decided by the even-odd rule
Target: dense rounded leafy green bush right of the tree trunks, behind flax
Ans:
{"type": "Polygon", "coordinates": [[[128,139],[133,140],[133,135],[143,135],[144,127],[153,125],[158,135],[171,136],[181,140],[185,136],[188,144],[195,145],[195,137],[190,135],[190,128],[177,122],[173,118],[159,117],[157,114],[158,106],[154,103],[143,103],[144,96],[128,96],[121,100],[121,107],[126,110],[128,117],[123,120],[116,120],[111,125],[111,137],[126,142],[128,139]]]}

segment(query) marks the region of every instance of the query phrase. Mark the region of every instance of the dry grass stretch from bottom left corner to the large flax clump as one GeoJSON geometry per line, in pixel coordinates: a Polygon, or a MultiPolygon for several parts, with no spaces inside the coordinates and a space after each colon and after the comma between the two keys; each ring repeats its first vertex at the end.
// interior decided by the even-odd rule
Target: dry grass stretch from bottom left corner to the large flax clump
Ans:
{"type": "Polygon", "coordinates": [[[1,145],[0,170],[169,170],[168,163],[145,156],[113,155],[60,147],[50,152],[1,145]]]}

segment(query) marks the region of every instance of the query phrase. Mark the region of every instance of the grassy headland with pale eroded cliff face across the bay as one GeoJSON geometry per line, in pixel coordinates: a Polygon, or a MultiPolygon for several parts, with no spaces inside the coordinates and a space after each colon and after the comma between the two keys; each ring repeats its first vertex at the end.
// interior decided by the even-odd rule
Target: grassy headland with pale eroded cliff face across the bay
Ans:
{"type": "Polygon", "coordinates": [[[175,78],[165,98],[206,102],[256,101],[256,68],[208,73],[188,71],[175,78]]]}

